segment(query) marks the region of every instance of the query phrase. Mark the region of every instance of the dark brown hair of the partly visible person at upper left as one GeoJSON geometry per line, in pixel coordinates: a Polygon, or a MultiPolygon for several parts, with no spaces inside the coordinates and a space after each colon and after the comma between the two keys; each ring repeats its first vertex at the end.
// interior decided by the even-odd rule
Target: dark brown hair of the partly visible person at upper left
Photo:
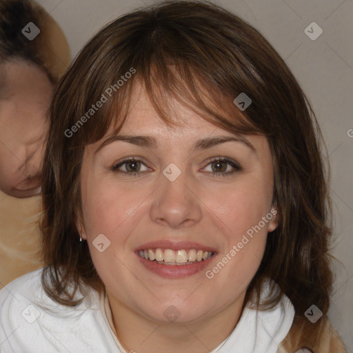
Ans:
{"type": "Polygon", "coordinates": [[[10,60],[36,63],[54,84],[70,64],[70,49],[61,28],[34,1],[0,1],[0,61],[10,60]],[[41,31],[32,41],[22,33],[30,22],[41,31]]]}

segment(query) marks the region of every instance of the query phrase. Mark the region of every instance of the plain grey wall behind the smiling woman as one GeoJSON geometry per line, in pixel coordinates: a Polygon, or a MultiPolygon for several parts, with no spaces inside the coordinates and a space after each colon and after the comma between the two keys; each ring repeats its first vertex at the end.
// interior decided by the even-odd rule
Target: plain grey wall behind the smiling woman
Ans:
{"type": "MultiPolygon", "coordinates": [[[[57,20],[74,57],[92,34],[115,17],[149,0],[38,0],[57,20]]],[[[272,43],[288,63],[319,119],[332,166],[336,283],[330,309],[347,352],[353,353],[353,1],[222,0],[272,43]],[[304,30],[316,22],[323,34],[312,41],[304,30]],[[349,134],[351,137],[349,137],[349,134]]]]}

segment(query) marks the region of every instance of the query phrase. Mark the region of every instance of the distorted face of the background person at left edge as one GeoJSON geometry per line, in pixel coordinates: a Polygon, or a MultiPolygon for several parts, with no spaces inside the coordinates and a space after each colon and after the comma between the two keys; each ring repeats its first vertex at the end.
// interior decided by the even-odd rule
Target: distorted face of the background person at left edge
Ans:
{"type": "Polygon", "coordinates": [[[0,64],[0,190],[15,197],[40,192],[54,87],[34,64],[0,64]]]}

